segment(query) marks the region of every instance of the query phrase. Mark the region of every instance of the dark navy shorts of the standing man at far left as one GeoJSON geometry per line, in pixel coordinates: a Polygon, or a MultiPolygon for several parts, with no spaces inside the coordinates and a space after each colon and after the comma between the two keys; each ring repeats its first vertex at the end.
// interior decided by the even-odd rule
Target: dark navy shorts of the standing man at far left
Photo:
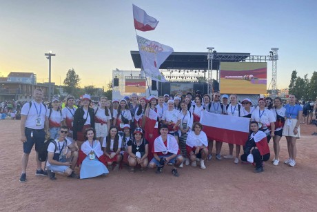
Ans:
{"type": "Polygon", "coordinates": [[[44,129],[34,130],[31,128],[25,127],[24,132],[25,132],[26,142],[23,143],[23,153],[30,154],[34,144],[35,144],[35,151],[38,152],[39,148],[44,145],[44,141],[45,141],[44,129]],[[33,137],[31,137],[32,132],[33,132],[33,137]]]}

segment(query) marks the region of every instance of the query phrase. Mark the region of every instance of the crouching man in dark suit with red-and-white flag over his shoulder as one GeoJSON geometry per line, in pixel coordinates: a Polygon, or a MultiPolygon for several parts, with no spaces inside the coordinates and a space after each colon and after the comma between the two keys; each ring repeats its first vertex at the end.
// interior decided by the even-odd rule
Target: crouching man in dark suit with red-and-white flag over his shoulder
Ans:
{"type": "Polygon", "coordinates": [[[253,161],[256,163],[254,173],[260,173],[264,171],[263,162],[269,160],[269,144],[267,144],[267,135],[263,133],[263,131],[258,130],[258,122],[250,122],[250,128],[252,133],[249,135],[249,139],[245,143],[245,146],[243,146],[244,154],[241,155],[241,160],[252,162],[253,156],[253,161]],[[250,155],[251,161],[248,160],[249,154],[252,154],[252,156],[250,155]]]}

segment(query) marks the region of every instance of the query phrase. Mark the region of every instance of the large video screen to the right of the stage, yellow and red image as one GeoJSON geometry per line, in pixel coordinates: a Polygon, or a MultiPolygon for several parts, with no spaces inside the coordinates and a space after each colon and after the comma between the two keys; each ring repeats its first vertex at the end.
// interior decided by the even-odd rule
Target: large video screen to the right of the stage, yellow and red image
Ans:
{"type": "Polygon", "coordinates": [[[222,62],[221,93],[267,93],[267,63],[222,62]]]}

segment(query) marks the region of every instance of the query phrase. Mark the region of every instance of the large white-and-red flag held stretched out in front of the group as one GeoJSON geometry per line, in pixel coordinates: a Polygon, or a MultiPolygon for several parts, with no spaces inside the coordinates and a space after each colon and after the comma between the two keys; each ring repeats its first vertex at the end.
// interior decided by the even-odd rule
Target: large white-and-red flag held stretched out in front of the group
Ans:
{"type": "Polygon", "coordinates": [[[203,111],[201,124],[208,139],[229,144],[245,145],[249,137],[249,119],[203,111]]]}

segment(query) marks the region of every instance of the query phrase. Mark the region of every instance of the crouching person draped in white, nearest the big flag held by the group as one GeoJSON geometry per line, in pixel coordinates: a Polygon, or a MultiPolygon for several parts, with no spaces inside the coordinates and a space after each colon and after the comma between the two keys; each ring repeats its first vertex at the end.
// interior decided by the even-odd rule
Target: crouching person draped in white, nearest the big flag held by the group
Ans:
{"type": "Polygon", "coordinates": [[[190,155],[190,161],[192,166],[196,165],[196,158],[201,159],[201,169],[205,169],[204,161],[208,155],[208,139],[205,132],[201,131],[203,126],[199,122],[195,122],[193,125],[194,131],[188,133],[186,139],[186,151],[187,155],[190,155]]]}

